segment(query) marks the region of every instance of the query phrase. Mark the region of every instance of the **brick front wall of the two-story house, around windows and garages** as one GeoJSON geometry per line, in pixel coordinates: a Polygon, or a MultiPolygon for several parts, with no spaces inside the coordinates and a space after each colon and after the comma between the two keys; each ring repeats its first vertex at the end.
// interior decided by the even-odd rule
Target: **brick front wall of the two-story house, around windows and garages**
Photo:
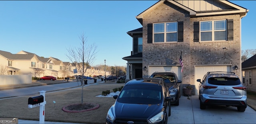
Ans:
{"type": "MultiPolygon", "coordinates": [[[[160,4],[143,16],[142,66],[179,65],[180,53],[184,63],[183,84],[194,84],[195,65],[237,65],[240,67],[240,15],[223,15],[191,18],[189,12],[169,2],[160,4]],[[220,42],[194,42],[194,22],[202,20],[233,19],[234,40],[220,42]],[[183,21],[183,42],[147,43],[147,25],[156,22],[183,21]]],[[[240,72],[239,70],[236,70],[240,72]]],[[[148,77],[148,70],[143,70],[148,77]]],[[[238,74],[238,76],[240,76],[238,74]]]]}

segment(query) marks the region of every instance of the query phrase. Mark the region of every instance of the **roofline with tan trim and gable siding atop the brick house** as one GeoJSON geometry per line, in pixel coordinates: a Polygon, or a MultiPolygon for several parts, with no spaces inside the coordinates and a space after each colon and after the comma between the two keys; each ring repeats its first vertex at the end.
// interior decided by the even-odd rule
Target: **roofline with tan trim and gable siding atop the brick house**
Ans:
{"type": "Polygon", "coordinates": [[[190,13],[190,17],[225,14],[240,14],[242,17],[249,11],[246,8],[229,2],[228,0],[159,0],[156,4],[150,6],[150,8],[136,16],[140,24],[143,25],[143,16],[145,14],[150,13],[151,10],[164,2],[170,2],[171,4],[186,10],[190,13]]]}

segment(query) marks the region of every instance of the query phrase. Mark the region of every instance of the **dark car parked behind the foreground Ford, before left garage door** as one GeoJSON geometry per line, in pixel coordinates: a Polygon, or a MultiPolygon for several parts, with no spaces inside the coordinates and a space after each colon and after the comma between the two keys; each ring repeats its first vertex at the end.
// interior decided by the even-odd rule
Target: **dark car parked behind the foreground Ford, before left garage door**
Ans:
{"type": "Polygon", "coordinates": [[[179,105],[181,80],[178,80],[177,75],[173,71],[156,71],[150,78],[162,78],[168,87],[170,97],[172,97],[170,104],[179,105]]]}

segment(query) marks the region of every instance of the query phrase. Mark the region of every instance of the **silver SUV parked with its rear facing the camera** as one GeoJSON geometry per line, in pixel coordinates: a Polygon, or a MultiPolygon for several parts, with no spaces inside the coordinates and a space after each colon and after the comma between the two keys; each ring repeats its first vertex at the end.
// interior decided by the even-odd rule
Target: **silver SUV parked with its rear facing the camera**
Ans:
{"type": "Polygon", "coordinates": [[[244,112],[247,107],[246,87],[234,72],[207,72],[199,85],[200,109],[206,105],[226,105],[237,107],[244,112]]]}

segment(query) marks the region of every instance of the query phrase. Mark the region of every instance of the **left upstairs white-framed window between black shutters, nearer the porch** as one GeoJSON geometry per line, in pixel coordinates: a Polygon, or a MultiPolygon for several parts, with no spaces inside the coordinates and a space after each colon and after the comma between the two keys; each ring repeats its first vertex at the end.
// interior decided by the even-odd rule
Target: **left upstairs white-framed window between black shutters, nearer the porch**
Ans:
{"type": "Polygon", "coordinates": [[[178,22],[154,23],[153,30],[154,43],[178,41],[178,22]]]}

